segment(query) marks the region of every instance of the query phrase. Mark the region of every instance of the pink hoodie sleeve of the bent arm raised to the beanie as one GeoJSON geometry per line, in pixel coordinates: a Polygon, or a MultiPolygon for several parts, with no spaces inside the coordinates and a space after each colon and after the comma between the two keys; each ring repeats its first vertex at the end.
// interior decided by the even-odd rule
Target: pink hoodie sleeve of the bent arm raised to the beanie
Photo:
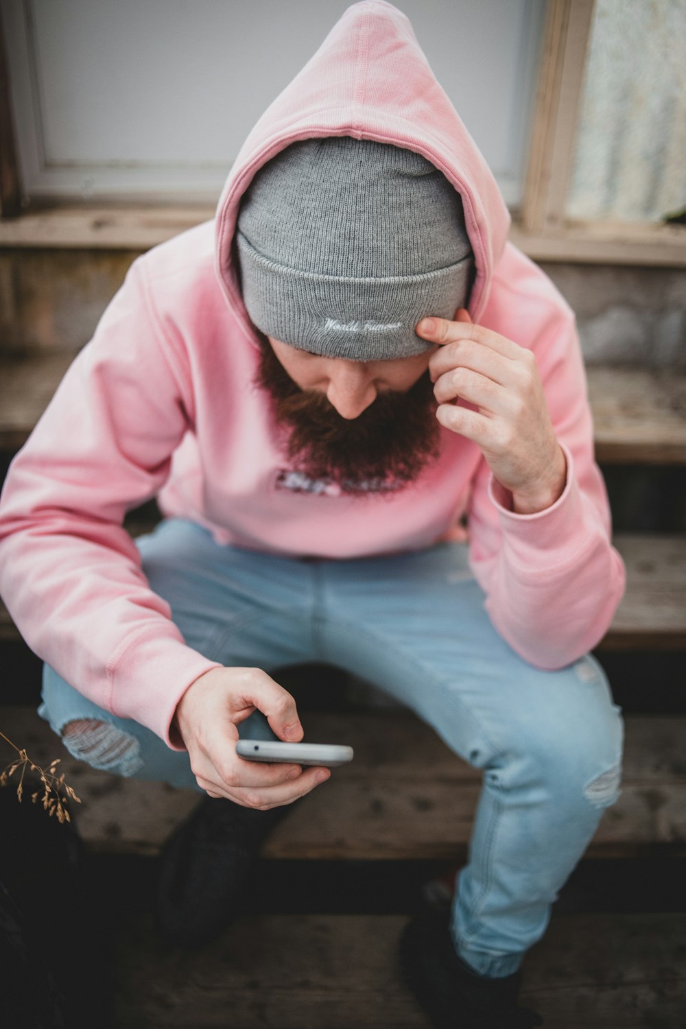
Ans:
{"type": "Polygon", "coordinates": [[[563,668],[603,638],[625,572],[611,545],[610,506],[593,456],[593,428],[574,316],[550,311],[533,342],[567,483],[550,507],[512,510],[512,495],[478,466],[468,508],[470,563],[491,619],[526,661],[563,668]]]}

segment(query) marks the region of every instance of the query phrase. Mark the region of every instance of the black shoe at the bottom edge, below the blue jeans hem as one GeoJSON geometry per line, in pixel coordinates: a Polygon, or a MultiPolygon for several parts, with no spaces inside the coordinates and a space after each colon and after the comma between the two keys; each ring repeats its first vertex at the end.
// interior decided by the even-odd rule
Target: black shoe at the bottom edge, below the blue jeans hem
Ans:
{"type": "Polygon", "coordinates": [[[423,916],[400,937],[400,971],[437,1029],[533,1029],[540,1016],[516,1005],[519,972],[488,979],[462,961],[448,916],[423,916]]]}

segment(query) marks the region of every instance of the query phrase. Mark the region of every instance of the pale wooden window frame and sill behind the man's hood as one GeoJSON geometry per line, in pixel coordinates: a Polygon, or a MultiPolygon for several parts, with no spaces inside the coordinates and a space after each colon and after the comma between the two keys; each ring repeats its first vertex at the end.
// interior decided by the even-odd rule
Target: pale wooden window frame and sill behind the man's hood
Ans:
{"type": "MultiPolygon", "coordinates": [[[[535,260],[686,267],[686,228],[565,217],[594,0],[548,0],[529,162],[510,239],[535,260]]],[[[0,21],[0,246],[145,249],[214,216],[207,204],[32,203],[22,188],[0,21]]]]}

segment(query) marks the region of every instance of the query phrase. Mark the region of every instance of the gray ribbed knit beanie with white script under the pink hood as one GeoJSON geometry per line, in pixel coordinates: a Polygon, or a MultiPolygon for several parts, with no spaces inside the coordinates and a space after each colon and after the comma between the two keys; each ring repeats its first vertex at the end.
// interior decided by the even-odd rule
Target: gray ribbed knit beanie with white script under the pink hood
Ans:
{"type": "Polygon", "coordinates": [[[292,143],[263,165],[238,219],[243,299],[265,335],[354,361],[429,348],[414,326],[466,307],[462,200],[412,150],[352,136],[292,143]]]}

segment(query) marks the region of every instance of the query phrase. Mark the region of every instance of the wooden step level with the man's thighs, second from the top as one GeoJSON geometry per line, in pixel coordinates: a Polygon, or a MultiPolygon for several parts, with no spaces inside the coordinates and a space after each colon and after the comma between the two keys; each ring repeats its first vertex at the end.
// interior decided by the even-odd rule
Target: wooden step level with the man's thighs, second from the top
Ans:
{"type": "MultiPolygon", "coordinates": [[[[133,535],[152,528],[134,519],[133,535]]],[[[618,534],[626,563],[626,593],[600,650],[686,649],[686,534],[618,534]]],[[[0,641],[21,639],[0,602],[0,641]]]]}

